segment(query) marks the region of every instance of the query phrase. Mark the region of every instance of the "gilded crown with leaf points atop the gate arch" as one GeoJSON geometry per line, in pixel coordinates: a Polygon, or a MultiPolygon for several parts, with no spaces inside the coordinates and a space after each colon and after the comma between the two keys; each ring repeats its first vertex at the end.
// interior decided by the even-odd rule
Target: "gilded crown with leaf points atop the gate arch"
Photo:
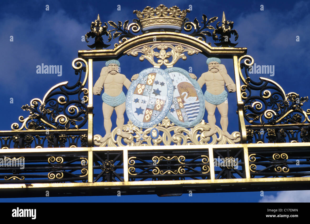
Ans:
{"type": "Polygon", "coordinates": [[[153,7],[147,6],[142,12],[133,11],[133,13],[137,14],[144,33],[150,30],[180,32],[187,12],[190,12],[190,10],[181,11],[177,6],[168,9],[164,5],[159,5],[155,10],[153,7]]]}

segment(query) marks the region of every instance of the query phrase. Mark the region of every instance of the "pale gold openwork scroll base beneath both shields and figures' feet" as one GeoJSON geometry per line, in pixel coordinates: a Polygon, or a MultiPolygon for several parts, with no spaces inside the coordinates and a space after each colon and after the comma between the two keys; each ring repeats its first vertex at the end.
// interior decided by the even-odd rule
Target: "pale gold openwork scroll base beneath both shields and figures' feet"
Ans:
{"type": "Polygon", "coordinates": [[[94,144],[96,146],[148,146],[148,145],[208,145],[208,144],[235,144],[240,141],[240,133],[235,131],[232,136],[235,138],[231,140],[222,134],[222,130],[216,126],[216,133],[210,137],[207,137],[207,132],[210,130],[210,125],[202,120],[198,125],[191,129],[175,126],[170,120],[165,117],[158,125],[154,125],[152,128],[141,129],[133,125],[129,121],[123,126],[123,131],[130,134],[129,138],[121,138],[117,136],[117,128],[113,129],[112,137],[105,142],[100,142],[101,135],[94,135],[94,144]],[[151,130],[156,128],[160,134],[157,139],[153,139],[151,136],[151,130]],[[162,134],[161,134],[162,133],[162,134]],[[219,137],[217,137],[217,135],[219,137]],[[144,143],[145,142],[145,143],[144,143]]]}

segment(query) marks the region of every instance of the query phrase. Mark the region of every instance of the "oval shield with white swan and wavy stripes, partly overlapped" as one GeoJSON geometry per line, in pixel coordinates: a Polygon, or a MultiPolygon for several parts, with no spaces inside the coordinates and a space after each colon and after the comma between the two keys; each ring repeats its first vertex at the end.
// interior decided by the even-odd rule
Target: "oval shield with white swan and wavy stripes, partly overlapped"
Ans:
{"type": "Polygon", "coordinates": [[[172,67],[165,71],[174,86],[173,102],[167,117],[181,127],[197,125],[205,114],[205,100],[198,82],[182,68],[172,67]]]}

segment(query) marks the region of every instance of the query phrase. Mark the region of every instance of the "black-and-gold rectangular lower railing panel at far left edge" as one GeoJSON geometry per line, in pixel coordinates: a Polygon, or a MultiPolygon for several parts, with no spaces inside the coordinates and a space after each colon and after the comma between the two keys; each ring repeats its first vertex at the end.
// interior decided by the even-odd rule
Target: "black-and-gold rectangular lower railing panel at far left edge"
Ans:
{"type": "Polygon", "coordinates": [[[2,180],[24,184],[86,182],[87,180],[88,158],[86,153],[27,152],[27,156],[22,156],[21,153],[15,153],[14,155],[17,156],[13,158],[3,154],[4,160],[0,156],[0,183],[2,180]]]}

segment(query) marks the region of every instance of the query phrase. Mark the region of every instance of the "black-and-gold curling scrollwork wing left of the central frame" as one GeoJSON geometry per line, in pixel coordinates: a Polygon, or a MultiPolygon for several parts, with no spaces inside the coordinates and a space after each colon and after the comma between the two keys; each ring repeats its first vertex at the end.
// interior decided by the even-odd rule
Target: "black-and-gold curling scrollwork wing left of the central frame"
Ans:
{"type": "Polygon", "coordinates": [[[42,100],[35,98],[30,101],[30,105],[22,106],[30,115],[25,119],[20,116],[22,125],[13,123],[12,130],[80,129],[87,122],[88,90],[84,86],[88,65],[84,59],[77,58],[73,60],[72,67],[78,75],[78,81],[73,86],[68,86],[68,81],[61,82],[48,90],[42,100]],[[85,72],[84,80],[82,72],[85,72]],[[69,97],[74,95],[78,99],[70,100],[69,97]]]}

